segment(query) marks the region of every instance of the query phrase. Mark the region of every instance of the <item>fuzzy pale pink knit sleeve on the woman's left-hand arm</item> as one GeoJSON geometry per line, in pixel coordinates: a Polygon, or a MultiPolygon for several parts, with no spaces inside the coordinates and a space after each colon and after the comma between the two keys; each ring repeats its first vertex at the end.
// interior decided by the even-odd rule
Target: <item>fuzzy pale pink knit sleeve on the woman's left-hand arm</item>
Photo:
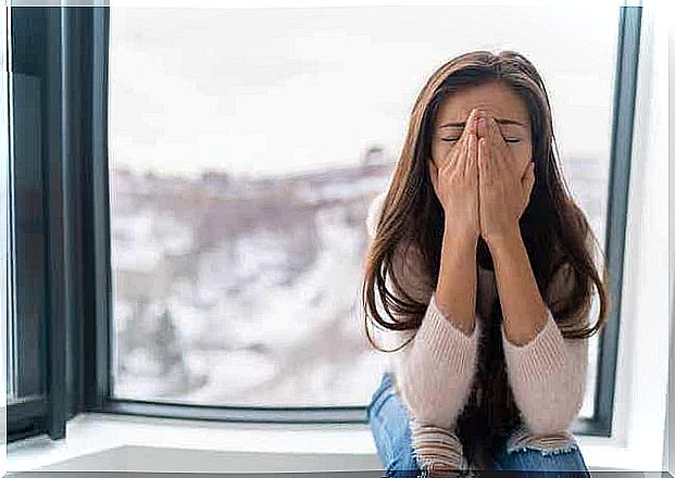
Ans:
{"type": "MultiPolygon", "coordinates": [[[[368,210],[366,223],[371,239],[375,236],[383,199],[384,194],[375,198],[368,210]]],[[[426,298],[428,304],[413,339],[404,348],[392,352],[390,365],[400,397],[416,423],[449,429],[468,399],[476,368],[480,324],[475,320],[471,335],[455,327],[439,310],[434,288],[425,284],[413,257],[402,260],[402,256],[397,256],[397,278],[403,287],[408,286],[405,290],[413,297],[426,298]]],[[[396,293],[389,276],[385,280],[387,289],[396,293]]],[[[390,334],[389,343],[396,335],[390,334]]],[[[405,335],[401,336],[405,338],[405,335]]]]}

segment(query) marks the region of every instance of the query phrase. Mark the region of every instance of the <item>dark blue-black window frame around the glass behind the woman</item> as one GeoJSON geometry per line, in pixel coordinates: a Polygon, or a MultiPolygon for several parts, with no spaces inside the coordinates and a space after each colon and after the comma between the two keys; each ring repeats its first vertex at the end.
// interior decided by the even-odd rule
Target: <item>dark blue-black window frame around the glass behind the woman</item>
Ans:
{"type": "MultiPolygon", "coordinates": [[[[577,418],[571,427],[576,435],[602,437],[611,436],[614,412],[641,24],[641,5],[618,8],[604,244],[613,307],[599,338],[595,414],[577,418]]],[[[28,305],[42,311],[37,344],[41,360],[30,370],[43,377],[45,394],[8,405],[8,441],[40,433],[63,438],[66,422],[82,412],[216,422],[366,423],[365,404],[243,407],[111,397],[109,7],[10,7],[9,12],[12,54],[8,86],[12,90],[11,84],[21,75],[37,77],[41,84],[41,144],[36,161],[39,174],[32,178],[42,198],[43,254],[39,271],[46,293],[37,305],[28,303],[32,299],[26,294],[17,295],[14,304],[17,311],[28,305]]],[[[9,100],[12,115],[21,112],[16,101],[9,100]]],[[[14,144],[26,141],[23,129],[14,129],[11,135],[14,144]]],[[[23,239],[16,236],[14,241],[21,243],[23,239]]],[[[26,257],[16,259],[21,279],[26,257]]],[[[21,329],[17,334],[21,341],[21,329]]],[[[17,373],[24,374],[25,369],[17,373]]]]}

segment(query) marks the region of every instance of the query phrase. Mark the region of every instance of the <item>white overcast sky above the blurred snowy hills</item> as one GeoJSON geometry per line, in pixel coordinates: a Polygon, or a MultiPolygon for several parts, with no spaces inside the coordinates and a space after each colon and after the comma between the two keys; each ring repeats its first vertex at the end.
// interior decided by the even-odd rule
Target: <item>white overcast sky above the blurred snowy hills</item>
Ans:
{"type": "Polygon", "coordinates": [[[111,8],[110,159],[284,175],[396,158],[427,77],[468,50],[541,73],[561,154],[607,161],[618,8],[111,8]]]}

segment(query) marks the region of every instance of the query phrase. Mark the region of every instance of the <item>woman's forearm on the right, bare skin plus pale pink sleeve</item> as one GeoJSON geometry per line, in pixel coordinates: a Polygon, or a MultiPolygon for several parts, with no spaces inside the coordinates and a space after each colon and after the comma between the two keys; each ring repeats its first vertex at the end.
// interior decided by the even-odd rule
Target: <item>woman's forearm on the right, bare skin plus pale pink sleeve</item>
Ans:
{"type": "Polygon", "coordinates": [[[566,429],[585,394],[588,341],[565,339],[543,302],[520,230],[488,242],[514,400],[529,429],[566,429]],[[526,347],[525,347],[526,345],[526,347]]]}

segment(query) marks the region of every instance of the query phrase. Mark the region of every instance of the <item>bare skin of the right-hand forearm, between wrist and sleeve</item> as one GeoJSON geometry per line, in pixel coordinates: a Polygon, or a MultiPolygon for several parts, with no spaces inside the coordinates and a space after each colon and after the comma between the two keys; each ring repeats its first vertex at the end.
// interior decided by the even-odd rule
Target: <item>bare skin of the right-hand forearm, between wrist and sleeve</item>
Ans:
{"type": "Polygon", "coordinates": [[[495,263],[507,338],[523,345],[537,336],[547,318],[527,249],[517,227],[488,246],[495,263]]]}

